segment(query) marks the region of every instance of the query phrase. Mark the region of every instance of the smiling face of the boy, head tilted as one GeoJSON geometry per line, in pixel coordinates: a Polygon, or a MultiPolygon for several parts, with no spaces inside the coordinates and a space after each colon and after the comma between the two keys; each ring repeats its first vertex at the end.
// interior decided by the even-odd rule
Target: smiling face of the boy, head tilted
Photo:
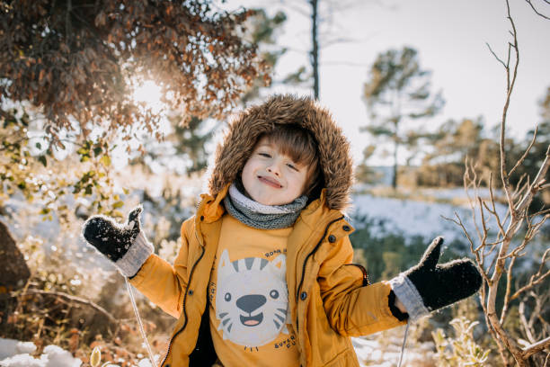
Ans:
{"type": "Polygon", "coordinates": [[[264,205],[283,205],[302,195],[307,169],[308,166],[293,162],[267,138],[262,138],[246,161],[241,179],[254,201],[264,205]]]}

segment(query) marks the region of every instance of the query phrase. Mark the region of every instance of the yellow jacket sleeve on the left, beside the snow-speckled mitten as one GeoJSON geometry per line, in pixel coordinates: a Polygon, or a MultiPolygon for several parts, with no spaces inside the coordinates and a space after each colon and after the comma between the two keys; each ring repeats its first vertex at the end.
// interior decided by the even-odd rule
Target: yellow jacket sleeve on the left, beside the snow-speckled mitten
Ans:
{"type": "Polygon", "coordinates": [[[146,298],[174,318],[179,318],[182,312],[183,295],[188,279],[189,240],[193,233],[194,218],[193,216],[182,224],[182,247],[173,265],[152,254],[130,280],[146,298]]]}

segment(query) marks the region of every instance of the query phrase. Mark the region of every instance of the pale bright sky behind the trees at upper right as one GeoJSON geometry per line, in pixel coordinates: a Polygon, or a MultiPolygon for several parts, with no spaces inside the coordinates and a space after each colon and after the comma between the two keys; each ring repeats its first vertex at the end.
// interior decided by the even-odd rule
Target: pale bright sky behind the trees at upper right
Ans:
{"type": "MultiPolygon", "coordinates": [[[[550,87],[550,20],[534,13],[526,1],[510,3],[520,61],[507,133],[523,139],[540,121],[538,101],[550,87]]],[[[486,43],[506,58],[511,38],[504,0],[319,0],[319,4],[320,42],[328,44],[320,54],[320,102],[350,139],[356,163],[363,148],[377,144],[368,133],[359,133],[359,127],[368,123],[361,94],[368,67],[386,49],[411,46],[419,51],[421,67],[431,70],[432,89],[442,91],[446,105],[426,121],[428,126],[477,116],[483,116],[488,127],[501,121],[506,75],[486,43]]],[[[533,4],[550,16],[550,5],[543,0],[533,4]]],[[[271,15],[285,11],[288,21],[277,40],[289,50],[279,60],[275,78],[308,65],[311,22],[306,0],[229,0],[224,6],[261,6],[271,15]]],[[[285,85],[274,85],[271,92],[311,94],[285,85]]],[[[387,165],[390,160],[377,157],[369,163],[387,165]]]]}

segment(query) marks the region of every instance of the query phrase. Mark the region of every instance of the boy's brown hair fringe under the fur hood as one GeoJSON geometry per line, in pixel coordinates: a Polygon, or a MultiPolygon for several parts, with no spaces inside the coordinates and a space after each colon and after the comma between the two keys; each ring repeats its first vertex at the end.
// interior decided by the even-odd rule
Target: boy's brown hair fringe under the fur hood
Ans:
{"type": "Polygon", "coordinates": [[[282,154],[292,158],[298,165],[307,166],[304,194],[310,196],[318,183],[322,183],[317,142],[313,135],[295,124],[275,124],[273,130],[263,133],[258,141],[262,138],[268,139],[282,154]]]}

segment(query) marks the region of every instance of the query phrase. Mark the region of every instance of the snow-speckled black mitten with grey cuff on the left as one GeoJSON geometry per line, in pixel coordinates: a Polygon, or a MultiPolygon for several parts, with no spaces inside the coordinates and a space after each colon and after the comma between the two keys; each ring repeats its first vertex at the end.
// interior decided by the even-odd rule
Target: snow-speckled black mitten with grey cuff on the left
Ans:
{"type": "Polygon", "coordinates": [[[94,215],[84,222],[82,229],[85,240],[107,256],[124,276],[135,275],[154,250],[141,231],[142,210],[139,205],[130,211],[125,225],[111,217],[94,215]]]}

